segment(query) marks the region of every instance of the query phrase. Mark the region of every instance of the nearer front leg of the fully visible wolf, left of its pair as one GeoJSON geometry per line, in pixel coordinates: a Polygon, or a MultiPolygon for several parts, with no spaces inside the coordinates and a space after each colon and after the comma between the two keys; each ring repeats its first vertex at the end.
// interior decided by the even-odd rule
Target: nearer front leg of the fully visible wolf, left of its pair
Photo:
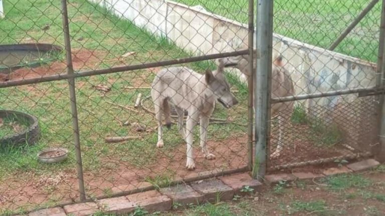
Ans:
{"type": "Polygon", "coordinates": [[[195,169],[195,162],[193,158],[193,129],[198,121],[198,114],[196,114],[196,112],[197,111],[189,112],[186,120],[186,142],[187,142],[186,168],[188,170],[195,169]]]}

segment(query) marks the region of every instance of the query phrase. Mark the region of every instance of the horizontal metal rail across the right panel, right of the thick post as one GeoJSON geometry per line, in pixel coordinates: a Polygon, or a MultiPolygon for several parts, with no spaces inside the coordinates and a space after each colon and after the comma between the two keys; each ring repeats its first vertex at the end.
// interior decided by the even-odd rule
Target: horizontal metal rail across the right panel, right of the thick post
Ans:
{"type": "Polygon", "coordinates": [[[311,93],[311,94],[299,94],[296,96],[273,97],[271,98],[271,103],[312,99],[312,98],[318,98],[318,97],[336,96],[336,95],[344,95],[344,94],[351,94],[351,93],[360,93],[361,94],[360,96],[366,96],[366,94],[374,95],[376,93],[383,93],[384,90],[385,88],[383,87],[377,88],[373,86],[368,88],[352,88],[352,89],[334,90],[334,91],[327,91],[327,92],[317,92],[317,93],[311,93]]]}

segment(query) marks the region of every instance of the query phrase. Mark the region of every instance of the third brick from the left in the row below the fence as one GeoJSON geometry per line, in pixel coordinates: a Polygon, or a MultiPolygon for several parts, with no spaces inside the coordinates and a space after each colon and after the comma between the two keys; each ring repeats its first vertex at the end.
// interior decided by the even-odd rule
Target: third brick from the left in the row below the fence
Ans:
{"type": "Polygon", "coordinates": [[[99,207],[106,213],[129,213],[134,210],[135,203],[128,200],[125,196],[106,198],[98,201],[99,207]]]}

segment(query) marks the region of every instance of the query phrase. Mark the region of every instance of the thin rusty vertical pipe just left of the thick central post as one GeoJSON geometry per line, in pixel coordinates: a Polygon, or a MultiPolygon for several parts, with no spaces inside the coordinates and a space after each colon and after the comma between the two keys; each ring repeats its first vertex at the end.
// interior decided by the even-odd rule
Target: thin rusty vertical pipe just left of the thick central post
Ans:
{"type": "Polygon", "coordinates": [[[248,87],[249,87],[249,98],[247,104],[247,142],[248,142],[248,165],[249,169],[253,169],[253,77],[254,77],[254,0],[249,0],[249,69],[251,71],[251,75],[248,79],[248,87]]]}

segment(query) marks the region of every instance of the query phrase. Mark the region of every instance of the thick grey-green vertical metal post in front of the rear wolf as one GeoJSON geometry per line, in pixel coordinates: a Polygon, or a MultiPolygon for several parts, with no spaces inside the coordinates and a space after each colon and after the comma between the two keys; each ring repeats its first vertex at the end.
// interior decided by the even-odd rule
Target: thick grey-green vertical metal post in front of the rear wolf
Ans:
{"type": "Polygon", "coordinates": [[[253,176],[262,178],[266,172],[267,143],[270,128],[270,88],[273,43],[273,0],[258,0],[257,54],[255,76],[255,140],[256,158],[253,176]],[[256,170],[257,169],[257,170],[256,170]]]}

